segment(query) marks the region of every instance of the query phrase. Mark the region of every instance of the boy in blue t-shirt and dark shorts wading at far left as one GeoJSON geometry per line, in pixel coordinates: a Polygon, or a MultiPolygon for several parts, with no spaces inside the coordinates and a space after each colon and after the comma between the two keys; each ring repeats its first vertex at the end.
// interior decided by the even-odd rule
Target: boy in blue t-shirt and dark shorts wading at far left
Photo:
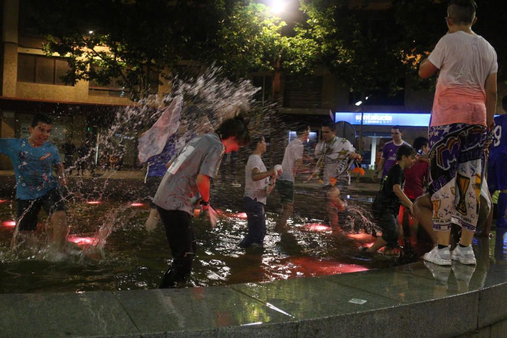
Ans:
{"type": "Polygon", "coordinates": [[[28,138],[0,139],[0,154],[7,155],[16,176],[16,234],[37,229],[41,207],[50,216],[53,243],[62,250],[67,237],[65,203],[61,186],[65,185],[63,164],[55,145],[47,142],[51,136],[51,119],[43,114],[33,117],[28,138]],[[53,175],[53,166],[57,176],[53,175]]]}

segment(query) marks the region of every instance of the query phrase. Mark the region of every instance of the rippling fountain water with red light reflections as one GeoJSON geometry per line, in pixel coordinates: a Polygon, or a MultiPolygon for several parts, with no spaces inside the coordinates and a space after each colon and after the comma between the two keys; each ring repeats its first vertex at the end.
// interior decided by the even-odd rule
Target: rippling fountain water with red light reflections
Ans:
{"type": "MultiPolygon", "coordinates": [[[[171,259],[162,224],[152,233],[143,227],[149,213],[146,204],[69,203],[68,240],[74,248],[60,259],[48,259],[41,244],[45,243],[43,212],[37,231],[40,240],[15,256],[9,248],[14,210],[5,203],[0,211],[2,217],[10,218],[0,219],[1,292],[156,288],[171,259]]],[[[292,219],[287,232],[277,234],[272,231],[276,215],[267,216],[265,247],[246,251],[238,247],[246,230],[243,213],[222,210],[214,229],[204,217],[196,218],[198,251],[188,285],[330,275],[391,264],[382,255],[364,255],[357,250],[374,242],[371,235],[333,236],[327,224],[297,218],[292,219]]]]}

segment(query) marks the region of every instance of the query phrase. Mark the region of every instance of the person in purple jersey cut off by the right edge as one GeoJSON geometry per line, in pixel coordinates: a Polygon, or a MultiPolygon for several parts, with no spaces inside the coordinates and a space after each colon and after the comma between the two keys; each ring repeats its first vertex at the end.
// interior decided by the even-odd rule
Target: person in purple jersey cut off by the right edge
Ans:
{"type": "Polygon", "coordinates": [[[503,114],[494,118],[493,142],[489,152],[488,186],[491,195],[499,190],[496,226],[507,227],[507,95],[502,98],[503,114]]]}

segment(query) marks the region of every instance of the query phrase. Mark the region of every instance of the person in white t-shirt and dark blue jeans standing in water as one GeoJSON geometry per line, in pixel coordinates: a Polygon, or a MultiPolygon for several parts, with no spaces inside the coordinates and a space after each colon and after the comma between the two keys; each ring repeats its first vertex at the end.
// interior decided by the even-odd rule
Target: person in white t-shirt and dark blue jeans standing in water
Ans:
{"type": "Polygon", "coordinates": [[[266,152],[266,140],[262,135],[253,135],[249,149],[251,155],[245,166],[245,193],[243,195],[243,210],[246,213],[248,234],[239,246],[247,248],[250,245],[262,247],[266,236],[266,201],[274,188],[278,173],[276,166],[267,170],[262,162],[262,154],[266,152]]]}

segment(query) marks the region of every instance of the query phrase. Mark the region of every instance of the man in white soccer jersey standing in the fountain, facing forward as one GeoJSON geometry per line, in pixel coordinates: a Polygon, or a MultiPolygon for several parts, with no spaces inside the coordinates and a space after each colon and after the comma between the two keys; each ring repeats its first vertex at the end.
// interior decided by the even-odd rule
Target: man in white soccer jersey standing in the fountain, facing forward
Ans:
{"type": "MultiPolygon", "coordinates": [[[[338,212],[344,211],[346,203],[340,198],[340,189],[337,182],[341,184],[340,175],[337,172],[340,166],[343,166],[347,157],[351,159],[360,159],[361,156],[355,153],[355,148],[346,138],[336,136],[336,127],[333,121],[324,122],[321,128],[322,140],[315,147],[315,156],[319,158],[317,167],[322,166],[325,207],[328,211],[330,226],[334,233],[339,233],[341,227],[338,224],[338,212]]],[[[345,173],[341,176],[344,176],[345,173]]],[[[345,178],[348,184],[348,177],[345,178]]]]}

